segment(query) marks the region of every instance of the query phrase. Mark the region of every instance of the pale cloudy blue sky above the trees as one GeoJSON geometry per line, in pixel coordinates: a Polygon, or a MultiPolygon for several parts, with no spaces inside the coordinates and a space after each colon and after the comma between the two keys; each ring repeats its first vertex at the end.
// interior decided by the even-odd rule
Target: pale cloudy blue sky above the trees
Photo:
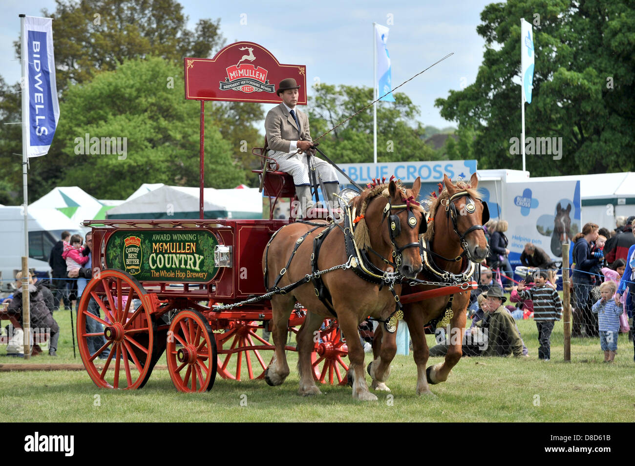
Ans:
{"type": "MultiPolygon", "coordinates": [[[[447,97],[448,90],[458,90],[476,79],[484,50],[476,26],[481,22],[483,7],[493,2],[411,0],[399,2],[399,6],[387,1],[341,0],[323,0],[319,6],[279,0],[180,3],[189,16],[191,29],[199,18],[220,18],[221,32],[228,44],[255,42],[282,63],[307,65],[307,84],[318,78],[327,84],[372,86],[373,22],[390,28],[387,45],[393,86],[454,52],[455,55],[399,89],[419,107],[422,123],[443,128],[456,124],[441,118],[434,100],[447,97]],[[241,15],[246,15],[242,17],[246,25],[241,25],[241,15]],[[392,24],[387,23],[389,20],[392,24]]],[[[42,8],[55,10],[53,0],[26,4],[23,0],[3,0],[0,75],[10,84],[20,79],[20,63],[11,61],[15,59],[12,43],[20,36],[18,14],[41,16],[42,8]]]]}

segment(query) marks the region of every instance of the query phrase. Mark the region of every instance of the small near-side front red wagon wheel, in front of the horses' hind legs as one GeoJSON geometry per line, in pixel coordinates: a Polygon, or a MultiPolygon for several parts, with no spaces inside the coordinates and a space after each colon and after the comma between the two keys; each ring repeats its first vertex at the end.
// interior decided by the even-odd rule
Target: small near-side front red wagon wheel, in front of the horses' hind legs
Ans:
{"type": "Polygon", "coordinates": [[[172,318],[168,331],[167,359],[170,378],[177,390],[211,390],[217,369],[216,341],[210,325],[200,312],[185,309],[172,318]]]}

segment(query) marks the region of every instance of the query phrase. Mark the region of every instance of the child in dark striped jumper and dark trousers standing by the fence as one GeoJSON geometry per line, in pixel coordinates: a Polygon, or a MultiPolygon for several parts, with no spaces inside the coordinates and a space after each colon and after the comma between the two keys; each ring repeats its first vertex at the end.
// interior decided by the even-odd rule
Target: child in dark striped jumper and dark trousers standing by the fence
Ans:
{"type": "Polygon", "coordinates": [[[533,302],[533,320],[538,328],[538,359],[551,359],[551,332],[554,324],[562,318],[562,300],[558,291],[547,285],[547,270],[538,270],[533,274],[535,286],[525,290],[525,280],[518,284],[518,296],[521,300],[530,299],[533,302]]]}

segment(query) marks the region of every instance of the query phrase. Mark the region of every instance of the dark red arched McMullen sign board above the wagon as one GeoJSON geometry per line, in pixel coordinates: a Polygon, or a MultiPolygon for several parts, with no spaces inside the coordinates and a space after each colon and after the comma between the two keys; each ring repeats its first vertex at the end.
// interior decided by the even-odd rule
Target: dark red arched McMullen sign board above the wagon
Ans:
{"type": "Polygon", "coordinates": [[[280,103],[277,86],[292,77],[300,85],[298,105],[307,104],[306,67],[279,63],[253,42],[228,45],[211,59],[187,57],[184,66],[187,99],[280,103]]]}

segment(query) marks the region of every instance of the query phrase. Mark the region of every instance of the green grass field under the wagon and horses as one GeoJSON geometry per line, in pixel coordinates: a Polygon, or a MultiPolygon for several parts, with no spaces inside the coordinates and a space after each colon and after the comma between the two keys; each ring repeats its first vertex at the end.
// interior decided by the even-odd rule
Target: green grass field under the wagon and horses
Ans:
{"type": "MultiPolygon", "coordinates": [[[[73,359],[69,311],[56,312],[55,319],[62,328],[57,358],[44,353],[23,361],[5,356],[6,346],[0,346],[0,364],[81,364],[79,352],[73,359]]],[[[632,342],[625,335],[618,340],[614,364],[602,362],[599,338],[573,338],[572,362],[564,363],[563,325],[558,323],[551,339],[552,359],[543,363],[537,359],[535,323],[519,321],[518,326],[530,358],[463,358],[448,382],[431,387],[436,397],[415,395],[412,356],[396,357],[388,381],[392,391],[377,392],[377,402],[354,401],[349,387],[329,385],[321,386],[322,396],[300,397],[297,357],[289,352],[291,375],[281,387],[218,376],[213,389],[204,394],[178,393],[166,370],[155,370],[145,387],[135,392],[98,389],[85,371],[3,372],[0,421],[632,422],[635,363],[632,342]]],[[[433,336],[428,338],[432,343],[433,336]]],[[[165,356],[158,364],[166,364],[165,356]]]]}

